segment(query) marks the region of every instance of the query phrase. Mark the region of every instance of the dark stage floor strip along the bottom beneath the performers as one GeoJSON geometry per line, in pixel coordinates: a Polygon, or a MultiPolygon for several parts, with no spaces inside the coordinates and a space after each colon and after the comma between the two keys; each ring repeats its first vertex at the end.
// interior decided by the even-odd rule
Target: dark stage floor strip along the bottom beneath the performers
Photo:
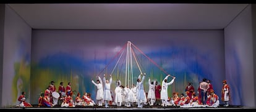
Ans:
{"type": "Polygon", "coordinates": [[[249,107],[244,107],[244,106],[219,106],[216,108],[213,107],[200,107],[200,108],[181,108],[179,106],[144,106],[143,108],[137,108],[136,106],[132,107],[117,107],[117,106],[110,106],[110,108],[105,108],[104,106],[76,106],[76,107],[52,107],[52,108],[46,108],[46,107],[29,107],[29,108],[17,108],[17,107],[7,107],[7,108],[0,108],[1,111],[19,111],[19,112],[38,112],[38,111],[44,111],[44,112],[49,112],[49,111],[61,111],[61,112],[74,112],[74,111],[173,111],[173,112],[180,112],[180,111],[224,111],[224,112],[236,112],[236,111],[256,111],[256,108],[249,108],[249,107]]]}

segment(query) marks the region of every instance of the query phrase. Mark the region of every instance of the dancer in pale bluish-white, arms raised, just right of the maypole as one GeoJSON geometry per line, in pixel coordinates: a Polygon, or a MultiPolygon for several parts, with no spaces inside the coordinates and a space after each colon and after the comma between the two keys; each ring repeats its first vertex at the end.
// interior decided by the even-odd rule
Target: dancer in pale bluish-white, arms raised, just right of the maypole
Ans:
{"type": "Polygon", "coordinates": [[[138,108],[142,108],[143,107],[143,102],[145,100],[145,94],[144,94],[144,87],[143,87],[143,81],[145,79],[145,75],[144,74],[140,74],[139,78],[137,79],[137,86],[138,86],[138,92],[137,92],[137,100],[138,100],[138,108]],[[143,75],[142,79],[140,75],[143,75]]]}

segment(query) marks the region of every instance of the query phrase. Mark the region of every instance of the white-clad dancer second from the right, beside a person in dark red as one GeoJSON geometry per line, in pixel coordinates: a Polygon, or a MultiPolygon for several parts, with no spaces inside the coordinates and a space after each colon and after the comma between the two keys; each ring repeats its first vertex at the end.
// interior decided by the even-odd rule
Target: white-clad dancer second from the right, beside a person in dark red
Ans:
{"type": "Polygon", "coordinates": [[[150,100],[150,106],[154,105],[155,103],[155,85],[156,85],[156,81],[150,82],[150,78],[148,78],[148,100],[150,100]]]}

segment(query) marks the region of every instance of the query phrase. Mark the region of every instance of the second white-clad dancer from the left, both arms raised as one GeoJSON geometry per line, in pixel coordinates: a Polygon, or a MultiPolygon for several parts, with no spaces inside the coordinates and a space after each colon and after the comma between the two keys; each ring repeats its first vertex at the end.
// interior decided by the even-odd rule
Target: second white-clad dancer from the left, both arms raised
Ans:
{"type": "Polygon", "coordinates": [[[104,78],[103,78],[103,82],[105,84],[104,100],[105,100],[105,107],[106,108],[109,108],[108,102],[112,100],[111,92],[110,92],[111,83],[112,83],[112,77],[111,77],[111,74],[109,76],[110,76],[109,81],[108,81],[108,79],[105,78],[105,74],[104,74],[104,78]]]}

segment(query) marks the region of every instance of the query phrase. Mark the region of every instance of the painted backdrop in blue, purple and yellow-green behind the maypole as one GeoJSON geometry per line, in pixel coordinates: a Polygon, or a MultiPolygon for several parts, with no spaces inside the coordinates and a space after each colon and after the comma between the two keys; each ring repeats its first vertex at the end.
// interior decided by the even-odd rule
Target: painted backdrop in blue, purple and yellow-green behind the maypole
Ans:
{"type": "MultiPolygon", "coordinates": [[[[96,87],[90,79],[96,80],[97,75],[103,78],[103,74],[113,73],[112,91],[117,79],[124,84],[126,50],[122,57],[119,51],[126,49],[127,41],[141,50],[133,48],[142,72],[147,74],[146,92],[148,78],[162,82],[168,73],[176,77],[169,88],[170,97],[173,92],[184,93],[187,82],[192,82],[197,90],[203,78],[210,79],[216,94],[221,96],[224,79],[221,30],[33,30],[32,37],[31,103],[37,103],[50,81],[56,87],[60,82],[65,87],[71,82],[73,97],[77,92],[89,92],[94,100],[96,87]]],[[[134,59],[132,63],[135,83],[140,72],[134,59]]]]}

